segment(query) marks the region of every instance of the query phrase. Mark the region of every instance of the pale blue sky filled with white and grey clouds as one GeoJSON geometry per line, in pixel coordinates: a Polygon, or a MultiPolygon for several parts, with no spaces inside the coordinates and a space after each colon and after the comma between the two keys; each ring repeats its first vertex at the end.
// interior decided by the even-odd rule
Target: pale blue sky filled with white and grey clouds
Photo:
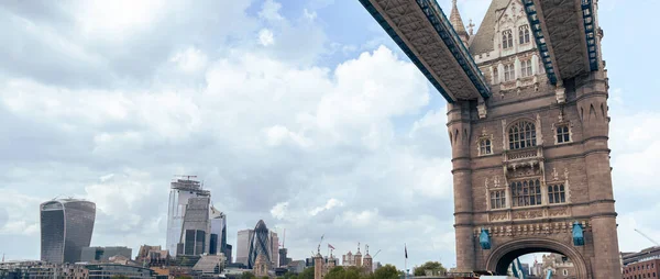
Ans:
{"type": "MultiPolygon", "coordinates": [[[[480,24],[488,2],[459,8],[480,24]]],[[[660,2],[602,2],[619,242],[637,250],[634,228],[660,241],[660,2]]],[[[444,100],[358,1],[9,1],[0,33],[6,258],[40,257],[55,197],[97,203],[92,245],[164,245],[168,183],[197,175],[232,244],[263,219],[297,259],[324,234],[454,265],[444,100]]]]}

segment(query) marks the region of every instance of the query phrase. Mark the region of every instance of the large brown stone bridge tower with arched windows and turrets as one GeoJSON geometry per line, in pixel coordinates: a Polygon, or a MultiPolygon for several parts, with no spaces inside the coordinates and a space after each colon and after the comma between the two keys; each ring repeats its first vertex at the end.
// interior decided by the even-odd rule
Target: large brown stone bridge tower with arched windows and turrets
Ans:
{"type": "MultiPolygon", "coordinates": [[[[620,278],[607,72],[598,60],[552,85],[524,9],[493,0],[469,38],[493,96],[448,104],[457,267],[503,272],[521,255],[551,252],[578,278],[620,278]]],[[[462,22],[454,29],[461,36],[462,22]]]]}

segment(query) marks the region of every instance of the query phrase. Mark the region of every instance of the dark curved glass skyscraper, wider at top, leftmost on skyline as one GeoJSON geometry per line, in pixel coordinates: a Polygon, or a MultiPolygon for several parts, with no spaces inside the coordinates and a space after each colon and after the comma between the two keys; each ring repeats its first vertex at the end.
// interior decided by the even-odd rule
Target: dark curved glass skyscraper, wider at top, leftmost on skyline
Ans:
{"type": "Polygon", "coordinates": [[[80,261],[82,247],[89,247],[96,204],[61,199],[44,202],[41,209],[41,259],[53,264],[80,261]]]}

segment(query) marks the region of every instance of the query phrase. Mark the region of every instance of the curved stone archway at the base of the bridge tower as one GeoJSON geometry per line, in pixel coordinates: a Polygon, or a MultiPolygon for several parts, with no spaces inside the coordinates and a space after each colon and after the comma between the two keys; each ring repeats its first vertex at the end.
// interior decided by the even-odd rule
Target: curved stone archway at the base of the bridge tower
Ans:
{"type": "Polygon", "coordinates": [[[542,238],[516,239],[501,245],[486,259],[486,270],[506,275],[508,265],[514,259],[530,253],[562,254],[573,261],[578,278],[591,278],[591,271],[587,268],[586,261],[574,247],[557,241],[542,238]]]}

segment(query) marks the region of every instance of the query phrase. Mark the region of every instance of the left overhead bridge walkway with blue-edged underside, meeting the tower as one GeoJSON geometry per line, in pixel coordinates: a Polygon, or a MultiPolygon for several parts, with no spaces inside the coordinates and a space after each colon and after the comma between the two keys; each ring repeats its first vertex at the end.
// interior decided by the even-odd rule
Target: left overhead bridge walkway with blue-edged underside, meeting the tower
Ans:
{"type": "Polygon", "coordinates": [[[491,90],[436,0],[360,0],[448,102],[491,90]]]}

